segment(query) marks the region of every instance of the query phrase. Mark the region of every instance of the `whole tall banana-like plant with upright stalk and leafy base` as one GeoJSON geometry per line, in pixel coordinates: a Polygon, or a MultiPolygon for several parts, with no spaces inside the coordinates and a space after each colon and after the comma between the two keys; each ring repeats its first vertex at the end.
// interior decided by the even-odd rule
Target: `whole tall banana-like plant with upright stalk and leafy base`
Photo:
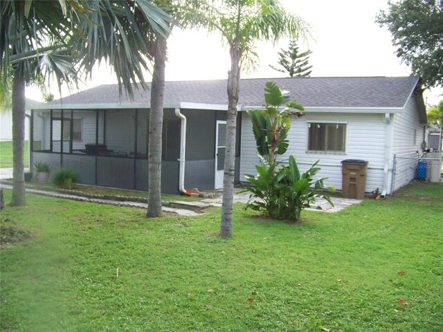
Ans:
{"type": "MultiPolygon", "coordinates": [[[[245,209],[265,212],[273,219],[299,221],[302,210],[310,208],[317,198],[334,205],[329,196],[320,193],[325,187],[325,178],[314,178],[320,170],[318,161],[301,174],[293,156],[289,156],[288,165],[275,160],[288,149],[291,118],[300,118],[304,109],[296,100],[289,100],[289,92],[282,91],[273,82],[266,83],[264,91],[265,109],[248,111],[262,165],[255,166],[257,175],[245,175],[252,185],[243,191],[251,192],[245,209]]],[[[334,187],[329,190],[334,192],[334,187]]]]}

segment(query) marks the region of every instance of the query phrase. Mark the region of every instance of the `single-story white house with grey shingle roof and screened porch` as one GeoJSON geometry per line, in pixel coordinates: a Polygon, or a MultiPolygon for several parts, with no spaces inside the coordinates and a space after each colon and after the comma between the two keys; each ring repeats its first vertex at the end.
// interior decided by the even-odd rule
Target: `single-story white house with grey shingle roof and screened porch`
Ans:
{"type": "MultiPolygon", "coordinates": [[[[268,81],[305,106],[305,116],[293,120],[287,151],[300,169],[320,159],[319,176],[340,190],[341,161],[367,160],[366,192],[386,194],[414,177],[417,160],[410,161],[411,174],[392,176],[392,164],[394,155],[422,151],[426,111],[419,77],[291,77],[241,81],[236,183],[255,174],[259,162],[246,111],[262,107],[268,81]]],[[[163,192],[222,187],[227,108],[226,80],[166,82],[163,192]]],[[[31,158],[77,169],[83,183],[147,190],[149,111],[148,92],[129,101],[116,85],[44,104],[31,111],[31,158]]]]}

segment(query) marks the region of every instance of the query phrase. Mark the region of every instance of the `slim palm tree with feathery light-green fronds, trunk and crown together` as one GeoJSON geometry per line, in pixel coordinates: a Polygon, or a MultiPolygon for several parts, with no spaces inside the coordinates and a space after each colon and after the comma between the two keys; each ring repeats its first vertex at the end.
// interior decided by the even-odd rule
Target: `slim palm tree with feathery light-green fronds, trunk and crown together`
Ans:
{"type": "Polygon", "coordinates": [[[224,161],[224,190],[220,236],[233,234],[235,170],[235,129],[242,66],[253,62],[254,44],[259,40],[276,42],[284,36],[305,35],[307,28],[298,16],[287,13],[278,0],[215,1],[213,8],[200,13],[208,30],[221,33],[229,46],[228,115],[224,161]]]}

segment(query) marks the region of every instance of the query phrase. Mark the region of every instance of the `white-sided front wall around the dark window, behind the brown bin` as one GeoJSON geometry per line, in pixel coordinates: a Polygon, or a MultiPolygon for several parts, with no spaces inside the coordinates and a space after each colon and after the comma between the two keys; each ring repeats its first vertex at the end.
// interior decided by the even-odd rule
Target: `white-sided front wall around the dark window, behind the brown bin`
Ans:
{"type": "MultiPolygon", "coordinates": [[[[305,172],[316,160],[321,167],[317,176],[327,178],[325,185],[334,185],[342,189],[341,161],[345,159],[362,159],[368,163],[368,177],[366,192],[377,187],[383,187],[383,167],[385,160],[386,124],[384,115],[358,115],[348,113],[309,113],[299,119],[293,119],[289,131],[289,149],[287,154],[279,160],[296,157],[301,172],[305,172]],[[311,152],[307,151],[308,123],[309,122],[337,122],[346,123],[346,151],[311,152]]],[[[252,131],[251,118],[247,113],[242,120],[242,153],[241,153],[240,181],[246,181],[244,174],[256,174],[255,165],[260,163],[256,154],[255,139],[252,131]]]]}

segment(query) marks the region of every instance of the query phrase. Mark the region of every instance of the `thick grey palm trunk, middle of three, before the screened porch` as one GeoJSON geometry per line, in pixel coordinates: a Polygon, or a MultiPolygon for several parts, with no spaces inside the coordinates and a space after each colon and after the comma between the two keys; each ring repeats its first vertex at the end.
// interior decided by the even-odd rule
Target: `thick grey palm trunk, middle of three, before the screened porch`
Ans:
{"type": "Polygon", "coordinates": [[[154,73],[151,85],[151,111],[149,133],[149,198],[148,217],[161,216],[161,143],[163,131],[163,95],[165,91],[165,62],[168,49],[165,37],[156,37],[154,73]]]}

